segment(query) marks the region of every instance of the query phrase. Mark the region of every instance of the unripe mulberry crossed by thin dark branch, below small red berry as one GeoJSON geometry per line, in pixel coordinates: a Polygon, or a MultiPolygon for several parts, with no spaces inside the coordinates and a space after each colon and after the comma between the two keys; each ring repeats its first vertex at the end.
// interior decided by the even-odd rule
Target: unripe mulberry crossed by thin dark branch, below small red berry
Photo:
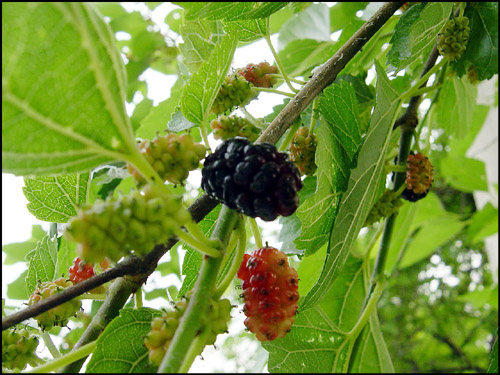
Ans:
{"type": "MultiPolygon", "coordinates": [[[[34,303],[49,298],[72,285],[73,283],[64,277],[41,283],[37,285],[35,291],[30,296],[28,305],[31,306],[34,303]]],[[[54,326],[64,327],[68,324],[69,318],[74,316],[81,306],[82,303],[79,300],[73,299],[35,316],[35,319],[42,331],[49,331],[54,326]]]]}

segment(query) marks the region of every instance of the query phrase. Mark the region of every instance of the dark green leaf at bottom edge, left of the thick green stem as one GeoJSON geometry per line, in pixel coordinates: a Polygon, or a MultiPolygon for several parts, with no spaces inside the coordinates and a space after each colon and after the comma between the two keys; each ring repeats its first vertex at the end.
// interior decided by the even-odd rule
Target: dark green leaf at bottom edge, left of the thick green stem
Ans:
{"type": "Polygon", "coordinates": [[[97,339],[87,365],[88,373],[152,373],[144,336],[151,331],[153,318],[161,311],[149,307],[122,309],[97,339]]]}

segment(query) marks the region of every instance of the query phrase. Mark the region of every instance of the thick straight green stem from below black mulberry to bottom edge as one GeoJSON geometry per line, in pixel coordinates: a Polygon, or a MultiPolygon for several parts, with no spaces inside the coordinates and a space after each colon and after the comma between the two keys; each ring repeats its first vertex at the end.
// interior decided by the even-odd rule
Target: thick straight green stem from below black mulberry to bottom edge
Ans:
{"type": "MultiPolygon", "coordinates": [[[[211,238],[220,240],[225,248],[237,218],[236,211],[223,205],[211,238]]],[[[208,308],[221,262],[222,258],[203,258],[193,295],[170,342],[168,351],[159,366],[159,373],[179,372],[191,342],[202,324],[202,315],[208,308]]]]}

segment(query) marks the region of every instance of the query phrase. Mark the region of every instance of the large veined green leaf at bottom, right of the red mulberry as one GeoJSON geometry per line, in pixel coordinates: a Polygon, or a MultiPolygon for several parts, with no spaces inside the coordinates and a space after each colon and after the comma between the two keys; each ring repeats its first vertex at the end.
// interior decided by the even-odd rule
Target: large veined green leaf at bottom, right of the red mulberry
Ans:
{"type": "MultiPolygon", "coordinates": [[[[304,268],[299,267],[301,280],[310,274],[304,273],[304,268]]],[[[314,262],[307,268],[318,270],[314,262]]],[[[393,372],[376,312],[367,323],[366,333],[360,337],[360,350],[355,357],[351,356],[356,337],[349,331],[361,313],[368,278],[366,264],[349,257],[324,298],[296,316],[291,332],[282,339],[263,343],[269,351],[269,372],[346,372],[351,362],[354,372],[393,372]]]]}

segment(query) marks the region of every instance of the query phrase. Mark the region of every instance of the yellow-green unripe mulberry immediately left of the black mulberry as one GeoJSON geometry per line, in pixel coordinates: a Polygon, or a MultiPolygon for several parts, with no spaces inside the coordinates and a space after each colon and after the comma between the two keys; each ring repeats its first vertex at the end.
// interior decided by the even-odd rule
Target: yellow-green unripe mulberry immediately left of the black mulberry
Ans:
{"type": "MultiPolygon", "coordinates": [[[[173,184],[182,184],[189,171],[198,168],[200,160],[205,157],[205,146],[195,143],[190,134],[167,134],[156,137],[152,141],[144,140],[138,145],[141,154],[163,179],[173,184]]],[[[138,185],[146,184],[146,180],[132,165],[129,172],[138,185]]]]}

